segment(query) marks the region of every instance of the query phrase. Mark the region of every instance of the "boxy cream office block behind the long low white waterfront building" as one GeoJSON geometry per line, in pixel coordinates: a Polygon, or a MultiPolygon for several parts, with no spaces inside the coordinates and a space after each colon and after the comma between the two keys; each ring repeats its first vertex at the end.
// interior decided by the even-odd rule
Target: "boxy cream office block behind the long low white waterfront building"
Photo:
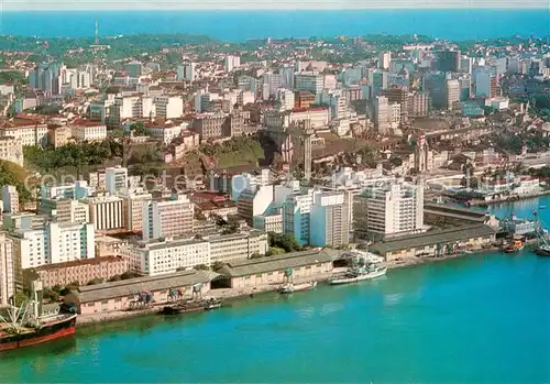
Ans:
{"type": "Polygon", "coordinates": [[[143,240],[174,238],[193,232],[195,206],[185,195],[167,201],[145,201],[143,240]]]}

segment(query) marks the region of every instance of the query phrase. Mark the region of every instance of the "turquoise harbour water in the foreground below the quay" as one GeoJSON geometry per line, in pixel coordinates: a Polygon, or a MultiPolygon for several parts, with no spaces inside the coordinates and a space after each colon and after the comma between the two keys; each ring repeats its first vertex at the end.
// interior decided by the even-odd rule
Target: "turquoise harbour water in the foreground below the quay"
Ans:
{"type": "Polygon", "coordinates": [[[106,328],[1,354],[0,382],[549,383],[550,259],[486,253],[106,328]]]}

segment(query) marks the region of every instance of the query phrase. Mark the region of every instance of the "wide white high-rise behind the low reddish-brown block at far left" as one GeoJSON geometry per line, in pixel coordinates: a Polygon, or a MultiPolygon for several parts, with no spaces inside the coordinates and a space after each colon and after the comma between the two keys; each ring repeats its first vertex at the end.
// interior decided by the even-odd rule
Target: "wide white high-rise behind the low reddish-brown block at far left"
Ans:
{"type": "Polygon", "coordinates": [[[91,223],[46,221],[11,232],[21,268],[64,263],[96,256],[91,223]]]}

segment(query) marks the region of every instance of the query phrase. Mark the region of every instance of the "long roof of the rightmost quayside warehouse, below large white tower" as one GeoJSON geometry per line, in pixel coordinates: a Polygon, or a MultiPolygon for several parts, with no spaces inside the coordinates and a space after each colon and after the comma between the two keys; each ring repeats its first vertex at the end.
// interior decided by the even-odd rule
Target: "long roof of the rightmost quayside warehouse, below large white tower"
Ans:
{"type": "Polygon", "coordinates": [[[370,246],[370,251],[385,254],[387,252],[408,250],[411,248],[449,243],[460,240],[468,240],[483,235],[495,234],[495,230],[490,226],[461,226],[444,230],[428,231],[426,233],[391,239],[370,246]]]}

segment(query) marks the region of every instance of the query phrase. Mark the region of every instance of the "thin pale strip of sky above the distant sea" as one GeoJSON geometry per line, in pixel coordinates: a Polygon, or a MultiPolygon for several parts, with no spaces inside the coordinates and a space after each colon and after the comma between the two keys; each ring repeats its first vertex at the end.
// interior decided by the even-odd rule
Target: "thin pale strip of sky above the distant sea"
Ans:
{"type": "Polygon", "coordinates": [[[543,9],[550,0],[0,0],[11,10],[543,9]]]}

